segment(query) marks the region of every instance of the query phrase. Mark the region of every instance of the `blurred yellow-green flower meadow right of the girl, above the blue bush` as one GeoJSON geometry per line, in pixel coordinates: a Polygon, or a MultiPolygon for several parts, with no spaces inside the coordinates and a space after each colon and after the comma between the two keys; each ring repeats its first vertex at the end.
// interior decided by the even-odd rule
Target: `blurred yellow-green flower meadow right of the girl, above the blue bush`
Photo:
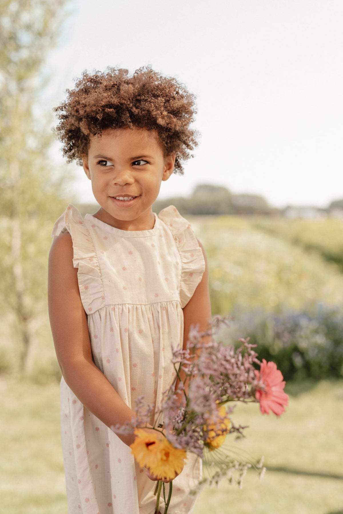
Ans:
{"type": "MultiPolygon", "coordinates": [[[[297,310],[318,302],[342,304],[343,273],[320,253],[271,233],[272,229],[256,228],[257,222],[250,218],[198,217],[194,222],[207,252],[213,314],[250,308],[297,310]]],[[[273,220],[263,219],[263,223],[274,227],[273,220]]],[[[343,230],[340,238],[338,231],[336,235],[339,247],[343,230]]]]}

